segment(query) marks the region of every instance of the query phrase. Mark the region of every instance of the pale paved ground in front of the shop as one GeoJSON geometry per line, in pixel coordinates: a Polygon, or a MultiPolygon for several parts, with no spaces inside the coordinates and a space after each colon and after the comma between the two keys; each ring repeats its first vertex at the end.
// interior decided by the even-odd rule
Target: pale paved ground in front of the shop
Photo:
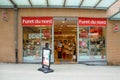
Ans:
{"type": "Polygon", "coordinates": [[[52,73],[37,71],[40,64],[0,63],[0,80],[120,80],[120,66],[52,64],[52,73]]]}

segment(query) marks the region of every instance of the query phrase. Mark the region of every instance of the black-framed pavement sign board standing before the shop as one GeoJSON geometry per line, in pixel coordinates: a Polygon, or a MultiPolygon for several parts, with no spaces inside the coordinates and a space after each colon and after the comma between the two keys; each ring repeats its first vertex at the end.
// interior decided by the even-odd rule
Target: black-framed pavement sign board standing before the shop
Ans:
{"type": "Polygon", "coordinates": [[[38,71],[42,71],[44,73],[53,72],[50,69],[50,61],[51,61],[51,50],[48,48],[43,48],[42,50],[42,68],[39,68],[38,71]]]}

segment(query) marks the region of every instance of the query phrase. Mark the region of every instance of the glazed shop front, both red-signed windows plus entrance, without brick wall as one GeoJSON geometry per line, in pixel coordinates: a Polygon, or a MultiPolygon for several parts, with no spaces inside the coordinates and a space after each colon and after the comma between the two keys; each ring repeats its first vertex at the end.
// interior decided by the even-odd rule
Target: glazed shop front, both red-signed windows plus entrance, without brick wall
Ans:
{"type": "Polygon", "coordinates": [[[75,29],[73,34],[70,34],[71,32],[66,34],[62,31],[60,34],[58,34],[60,31],[56,33],[55,25],[53,25],[55,21],[52,17],[22,17],[21,21],[23,26],[23,62],[41,62],[42,48],[45,43],[49,43],[49,48],[52,50],[53,63],[59,60],[55,57],[58,56],[55,47],[60,43],[64,45],[64,48],[62,47],[63,51],[59,56],[64,61],[68,59],[72,62],[73,55],[76,56],[76,62],[106,60],[106,18],[79,17],[76,26],[72,25],[72,31],[75,29]],[[56,34],[59,35],[57,38],[55,38],[56,34]],[[65,36],[67,37],[65,38],[65,36]]]}

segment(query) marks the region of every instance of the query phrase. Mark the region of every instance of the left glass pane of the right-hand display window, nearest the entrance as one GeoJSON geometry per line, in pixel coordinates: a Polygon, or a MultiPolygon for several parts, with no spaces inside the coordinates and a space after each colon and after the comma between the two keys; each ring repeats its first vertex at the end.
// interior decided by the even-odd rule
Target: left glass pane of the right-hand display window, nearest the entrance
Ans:
{"type": "Polygon", "coordinates": [[[79,28],[79,56],[80,59],[89,59],[89,28],[79,28]]]}

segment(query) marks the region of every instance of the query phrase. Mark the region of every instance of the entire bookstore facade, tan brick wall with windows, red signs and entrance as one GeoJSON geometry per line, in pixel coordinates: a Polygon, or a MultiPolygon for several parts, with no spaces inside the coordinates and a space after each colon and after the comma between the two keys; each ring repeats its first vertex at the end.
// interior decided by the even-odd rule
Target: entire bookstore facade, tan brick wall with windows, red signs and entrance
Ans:
{"type": "Polygon", "coordinates": [[[1,20],[3,46],[0,53],[3,57],[0,62],[16,62],[17,59],[20,63],[39,63],[42,48],[48,43],[52,63],[72,63],[75,59],[76,63],[120,64],[120,23],[109,20],[105,10],[28,8],[19,9],[18,18],[13,9],[7,11],[8,21],[1,20]]]}

